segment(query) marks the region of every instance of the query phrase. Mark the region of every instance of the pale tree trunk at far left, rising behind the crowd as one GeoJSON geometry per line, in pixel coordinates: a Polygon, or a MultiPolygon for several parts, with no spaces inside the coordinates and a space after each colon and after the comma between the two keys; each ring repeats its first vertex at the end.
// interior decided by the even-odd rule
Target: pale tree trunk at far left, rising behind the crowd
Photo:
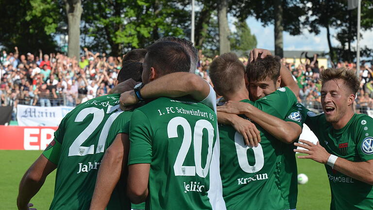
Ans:
{"type": "Polygon", "coordinates": [[[65,0],[68,15],[68,57],[80,58],[80,19],[82,17],[81,0],[65,0]]]}

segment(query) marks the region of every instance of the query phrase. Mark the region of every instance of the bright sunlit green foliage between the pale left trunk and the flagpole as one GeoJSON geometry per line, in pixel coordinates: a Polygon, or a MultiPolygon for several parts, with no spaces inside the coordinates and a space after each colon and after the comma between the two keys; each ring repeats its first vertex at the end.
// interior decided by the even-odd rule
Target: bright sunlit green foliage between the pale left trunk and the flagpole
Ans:
{"type": "Polygon", "coordinates": [[[190,23],[185,7],[177,0],[89,0],[82,16],[86,46],[90,49],[123,54],[143,48],[166,35],[184,36],[190,23]]]}

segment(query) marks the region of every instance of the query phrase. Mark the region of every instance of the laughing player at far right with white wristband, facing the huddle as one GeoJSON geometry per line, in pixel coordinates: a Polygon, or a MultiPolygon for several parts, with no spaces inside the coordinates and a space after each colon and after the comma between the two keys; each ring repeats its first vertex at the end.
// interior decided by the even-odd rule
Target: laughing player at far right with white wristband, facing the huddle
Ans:
{"type": "Polygon", "coordinates": [[[324,113],[307,113],[305,123],[319,139],[317,144],[294,143],[325,164],[332,199],[331,210],[373,209],[373,119],[354,113],[353,103],[360,82],[354,70],[323,70],[321,104],[324,113]]]}

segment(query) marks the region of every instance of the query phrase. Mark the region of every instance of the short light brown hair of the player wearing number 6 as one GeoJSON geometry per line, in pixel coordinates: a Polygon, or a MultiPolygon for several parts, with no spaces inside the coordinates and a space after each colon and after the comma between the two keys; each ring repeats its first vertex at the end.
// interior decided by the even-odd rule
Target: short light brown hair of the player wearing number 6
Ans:
{"type": "Polygon", "coordinates": [[[235,53],[224,53],[212,61],[209,73],[218,94],[226,94],[240,88],[245,66],[235,53]]]}

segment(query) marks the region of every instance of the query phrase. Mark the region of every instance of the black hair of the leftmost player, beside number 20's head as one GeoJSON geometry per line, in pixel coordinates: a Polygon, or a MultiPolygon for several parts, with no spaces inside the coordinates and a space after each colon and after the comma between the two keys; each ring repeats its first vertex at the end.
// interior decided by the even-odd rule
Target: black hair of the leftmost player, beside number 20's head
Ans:
{"type": "Polygon", "coordinates": [[[136,82],[141,82],[142,63],[134,62],[125,64],[118,73],[118,83],[124,82],[128,79],[133,79],[136,82]]]}

